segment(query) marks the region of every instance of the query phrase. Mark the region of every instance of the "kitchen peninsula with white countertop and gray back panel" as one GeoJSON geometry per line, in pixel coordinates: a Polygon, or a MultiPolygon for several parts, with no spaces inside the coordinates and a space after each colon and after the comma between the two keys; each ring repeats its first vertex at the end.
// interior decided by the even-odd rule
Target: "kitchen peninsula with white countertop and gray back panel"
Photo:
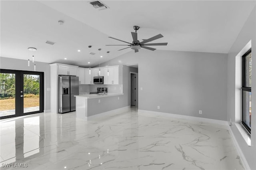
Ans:
{"type": "Polygon", "coordinates": [[[76,95],[76,117],[88,120],[88,117],[100,113],[122,109],[122,95],[124,93],[76,95]]]}

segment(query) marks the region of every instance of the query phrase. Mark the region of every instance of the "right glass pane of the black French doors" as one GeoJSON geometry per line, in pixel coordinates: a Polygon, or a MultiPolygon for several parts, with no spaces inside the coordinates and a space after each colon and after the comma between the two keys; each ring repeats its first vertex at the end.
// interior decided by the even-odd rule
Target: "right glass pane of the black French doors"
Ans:
{"type": "Polygon", "coordinates": [[[40,109],[40,75],[24,74],[24,113],[39,111],[40,109]]]}

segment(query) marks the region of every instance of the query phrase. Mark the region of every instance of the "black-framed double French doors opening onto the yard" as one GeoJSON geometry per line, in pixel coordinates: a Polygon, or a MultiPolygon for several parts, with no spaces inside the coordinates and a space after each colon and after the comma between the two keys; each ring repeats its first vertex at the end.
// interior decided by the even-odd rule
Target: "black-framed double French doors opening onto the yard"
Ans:
{"type": "Polygon", "coordinates": [[[0,69],[0,119],[43,111],[43,72],[0,69]]]}

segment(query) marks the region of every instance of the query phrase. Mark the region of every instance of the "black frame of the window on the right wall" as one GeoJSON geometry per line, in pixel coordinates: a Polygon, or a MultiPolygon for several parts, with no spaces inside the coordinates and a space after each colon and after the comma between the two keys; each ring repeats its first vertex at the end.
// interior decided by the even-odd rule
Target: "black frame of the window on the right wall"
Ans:
{"type": "Polygon", "coordinates": [[[244,53],[242,55],[242,87],[241,87],[241,124],[243,125],[243,127],[248,131],[249,134],[251,134],[251,128],[243,121],[243,91],[248,91],[250,93],[252,93],[252,87],[247,87],[246,86],[246,56],[252,52],[252,48],[250,48],[248,51],[246,51],[246,53],[244,53]]]}

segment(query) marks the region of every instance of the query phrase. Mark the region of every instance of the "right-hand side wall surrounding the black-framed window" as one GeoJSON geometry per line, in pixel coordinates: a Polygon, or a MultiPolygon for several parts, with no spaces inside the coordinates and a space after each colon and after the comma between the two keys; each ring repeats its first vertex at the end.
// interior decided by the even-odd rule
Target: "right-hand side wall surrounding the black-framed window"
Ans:
{"type": "Polygon", "coordinates": [[[250,166],[250,169],[256,169],[256,10],[252,10],[248,20],[244,24],[236,41],[228,52],[228,121],[236,121],[235,113],[241,112],[236,110],[236,105],[239,105],[238,95],[236,95],[236,55],[244,48],[244,46],[252,40],[252,122],[251,122],[251,146],[248,146],[244,138],[241,136],[236,126],[231,127],[231,130],[250,166]],[[238,102],[236,102],[238,101],[238,102]]]}

